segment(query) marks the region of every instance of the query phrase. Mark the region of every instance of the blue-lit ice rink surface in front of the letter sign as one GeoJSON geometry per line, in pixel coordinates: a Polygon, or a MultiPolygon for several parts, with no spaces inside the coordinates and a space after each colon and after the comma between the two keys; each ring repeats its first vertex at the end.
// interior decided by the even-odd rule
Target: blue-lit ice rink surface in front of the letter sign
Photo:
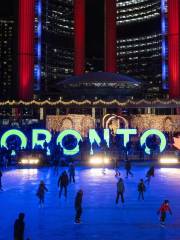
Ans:
{"type": "MultiPolygon", "coordinates": [[[[137,200],[137,183],[147,167],[133,167],[134,177],[125,179],[125,204],[115,204],[116,182],[113,170],[77,168],[76,184],[69,185],[67,201],[58,198],[57,176],[52,168],[13,169],[4,172],[0,192],[0,240],[13,239],[13,224],[24,212],[25,236],[30,240],[179,240],[180,169],[159,168],[145,193],[137,200]],[[45,208],[38,207],[36,191],[40,180],[49,189],[45,208]],[[74,197],[84,191],[82,224],[74,224],[74,197]],[[170,200],[173,215],[166,227],[156,214],[164,199],[170,200]]],[[[60,171],[62,171],[61,169],[60,171]]],[[[25,239],[26,239],[25,238],[25,239]]]]}

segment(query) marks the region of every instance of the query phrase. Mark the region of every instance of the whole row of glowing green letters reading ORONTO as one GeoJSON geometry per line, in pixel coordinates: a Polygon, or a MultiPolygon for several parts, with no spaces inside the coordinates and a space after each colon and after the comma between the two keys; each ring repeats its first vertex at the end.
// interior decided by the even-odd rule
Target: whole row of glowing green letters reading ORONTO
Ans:
{"type": "MultiPolygon", "coordinates": [[[[127,143],[130,140],[130,136],[137,134],[137,129],[117,129],[116,134],[123,135],[123,145],[126,147],[127,143]]],[[[1,140],[0,140],[1,147],[5,147],[8,149],[7,139],[13,135],[15,135],[15,137],[20,138],[21,148],[27,147],[27,138],[26,138],[25,134],[22,131],[17,130],[17,129],[11,129],[11,130],[8,130],[5,133],[3,133],[1,140]]],[[[149,129],[149,130],[145,131],[140,138],[141,146],[145,146],[145,153],[150,154],[150,152],[151,152],[151,149],[146,144],[147,138],[150,135],[156,135],[160,138],[159,149],[160,149],[160,152],[163,152],[163,150],[166,148],[166,144],[167,144],[165,135],[157,129],[149,129]]],[[[107,147],[109,148],[110,147],[110,130],[109,129],[104,129],[103,138],[107,144],[107,147]]],[[[44,149],[45,141],[47,142],[47,144],[49,144],[51,142],[51,140],[52,140],[52,135],[48,130],[46,130],[46,129],[33,129],[32,130],[32,149],[34,149],[36,145],[40,145],[42,147],[42,149],[44,149]],[[42,139],[40,138],[40,135],[43,135],[42,139]]],[[[67,130],[64,130],[61,133],[59,133],[59,135],[56,139],[56,144],[57,145],[60,144],[60,146],[63,149],[64,155],[73,156],[73,155],[76,155],[77,153],[79,153],[79,150],[80,150],[79,142],[80,141],[83,141],[83,139],[79,132],[77,132],[76,130],[73,130],[73,129],[67,129],[67,130]],[[68,149],[66,144],[63,142],[64,138],[67,137],[68,135],[71,135],[76,139],[76,141],[72,142],[72,144],[74,144],[74,145],[71,145],[72,146],[71,149],[68,149]]],[[[90,129],[89,130],[89,142],[91,144],[90,154],[93,154],[93,144],[96,143],[100,147],[101,141],[102,141],[102,139],[100,138],[100,136],[98,135],[96,130],[90,129]]],[[[179,148],[180,147],[179,139],[174,138],[174,141],[175,141],[174,146],[179,148]]],[[[68,142],[68,143],[70,143],[70,142],[68,142]]],[[[49,147],[47,147],[47,154],[50,154],[49,147]]]]}

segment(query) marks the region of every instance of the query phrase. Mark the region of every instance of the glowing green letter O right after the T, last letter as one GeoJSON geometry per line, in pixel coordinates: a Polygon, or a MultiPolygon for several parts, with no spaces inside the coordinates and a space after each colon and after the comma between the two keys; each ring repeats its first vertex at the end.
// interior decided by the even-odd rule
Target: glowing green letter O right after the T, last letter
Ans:
{"type": "Polygon", "coordinates": [[[157,130],[157,129],[150,129],[150,130],[147,130],[143,133],[143,135],[141,136],[141,146],[143,146],[145,144],[146,148],[145,148],[145,152],[147,154],[150,154],[150,148],[148,148],[148,146],[146,145],[146,139],[150,136],[150,135],[157,135],[160,140],[161,140],[161,143],[160,143],[160,146],[159,146],[159,149],[160,149],[160,152],[163,152],[164,149],[166,148],[166,144],[167,144],[167,141],[166,141],[166,137],[164,136],[164,134],[157,130]]]}

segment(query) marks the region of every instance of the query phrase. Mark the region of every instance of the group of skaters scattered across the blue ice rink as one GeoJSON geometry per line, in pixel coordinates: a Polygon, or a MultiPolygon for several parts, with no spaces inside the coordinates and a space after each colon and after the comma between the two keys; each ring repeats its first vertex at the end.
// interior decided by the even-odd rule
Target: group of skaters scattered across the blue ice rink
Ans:
{"type": "MultiPolygon", "coordinates": [[[[58,166],[59,167],[59,166],[58,166]]],[[[132,166],[130,161],[125,162],[125,171],[126,171],[126,178],[129,176],[133,178],[132,173],[132,166]]],[[[75,176],[75,165],[74,163],[69,164],[68,170],[63,170],[61,174],[59,175],[57,179],[57,189],[59,189],[59,198],[61,198],[62,193],[65,197],[65,199],[68,197],[68,186],[70,183],[76,183],[76,176],[75,176]]],[[[56,172],[55,172],[56,174],[56,172]]],[[[154,166],[150,166],[147,173],[145,174],[145,179],[140,179],[137,184],[137,199],[138,200],[144,200],[144,194],[146,192],[146,184],[149,185],[151,182],[151,178],[155,175],[155,168],[154,166]]],[[[2,187],[2,177],[3,173],[0,171],[0,190],[3,191],[2,187]]],[[[122,204],[125,203],[125,185],[124,180],[121,177],[121,172],[119,170],[119,167],[116,166],[115,168],[115,177],[117,178],[117,186],[116,186],[116,197],[115,197],[115,203],[119,203],[119,198],[121,198],[122,204]],[[118,171],[117,171],[118,168],[118,171]]],[[[40,181],[40,184],[37,188],[36,196],[39,199],[39,208],[44,208],[45,204],[45,195],[46,192],[48,192],[48,188],[46,187],[46,184],[43,180],[40,181]]],[[[83,190],[79,189],[77,191],[77,194],[74,199],[74,208],[75,208],[75,223],[79,224],[81,223],[81,215],[82,215],[82,201],[83,201],[83,190]]],[[[169,206],[169,201],[164,200],[162,205],[157,211],[157,214],[160,214],[160,223],[161,226],[165,226],[165,220],[167,212],[172,214],[171,208],[169,206]]],[[[16,219],[14,223],[14,240],[24,240],[24,229],[25,229],[25,223],[24,223],[25,214],[19,213],[18,219],[16,219]]],[[[29,239],[30,240],[30,239],[29,239]]]]}

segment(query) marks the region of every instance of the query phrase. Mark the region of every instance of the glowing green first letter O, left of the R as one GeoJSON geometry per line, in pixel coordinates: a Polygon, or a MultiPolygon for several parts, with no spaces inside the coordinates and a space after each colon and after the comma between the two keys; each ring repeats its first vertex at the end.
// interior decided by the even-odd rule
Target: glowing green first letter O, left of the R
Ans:
{"type": "Polygon", "coordinates": [[[8,148],[7,147],[7,139],[8,139],[8,137],[13,136],[13,135],[15,135],[15,136],[17,136],[21,139],[21,149],[27,147],[26,136],[24,135],[23,132],[21,132],[20,130],[16,130],[16,129],[8,130],[2,135],[2,137],[1,137],[1,147],[8,148]]]}

